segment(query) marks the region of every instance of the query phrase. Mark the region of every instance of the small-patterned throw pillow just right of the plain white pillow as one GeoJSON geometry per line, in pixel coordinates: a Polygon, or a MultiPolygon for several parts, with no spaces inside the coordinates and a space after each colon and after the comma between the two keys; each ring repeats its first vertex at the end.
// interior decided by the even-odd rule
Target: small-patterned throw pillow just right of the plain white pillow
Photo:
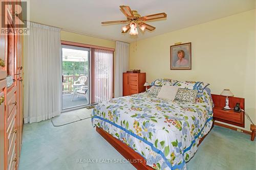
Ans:
{"type": "Polygon", "coordinates": [[[184,88],[179,88],[175,96],[175,100],[181,100],[184,102],[195,103],[197,97],[197,90],[189,90],[184,88]]]}

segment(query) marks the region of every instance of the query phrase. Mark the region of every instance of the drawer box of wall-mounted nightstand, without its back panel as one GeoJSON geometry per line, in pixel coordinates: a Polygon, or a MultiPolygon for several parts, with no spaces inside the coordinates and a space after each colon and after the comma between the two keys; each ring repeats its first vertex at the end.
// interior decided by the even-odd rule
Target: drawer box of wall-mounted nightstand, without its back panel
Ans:
{"type": "Polygon", "coordinates": [[[221,106],[214,107],[214,120],[244,128],[244,112],[235,112],[233,109],[223,110],[221,106]]]}

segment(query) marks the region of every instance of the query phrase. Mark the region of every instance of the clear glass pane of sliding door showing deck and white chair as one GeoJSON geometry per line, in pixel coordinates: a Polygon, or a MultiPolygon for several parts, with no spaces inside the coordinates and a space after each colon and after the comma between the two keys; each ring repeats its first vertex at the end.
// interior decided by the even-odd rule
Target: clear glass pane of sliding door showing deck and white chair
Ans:
{"type": "Polygon", "coordinates": [[[62,45],[62,110],[90,104],[90,48],[62,45]]]}

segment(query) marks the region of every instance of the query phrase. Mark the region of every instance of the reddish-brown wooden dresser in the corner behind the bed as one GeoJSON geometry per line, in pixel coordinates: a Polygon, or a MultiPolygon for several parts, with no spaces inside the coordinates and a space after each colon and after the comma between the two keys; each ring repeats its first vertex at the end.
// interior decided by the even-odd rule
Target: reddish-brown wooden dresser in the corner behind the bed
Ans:
{"type": "Polygon", "coordinates": [[[123,96],[145,91],[146,73],[123,73],[123,96]]]}

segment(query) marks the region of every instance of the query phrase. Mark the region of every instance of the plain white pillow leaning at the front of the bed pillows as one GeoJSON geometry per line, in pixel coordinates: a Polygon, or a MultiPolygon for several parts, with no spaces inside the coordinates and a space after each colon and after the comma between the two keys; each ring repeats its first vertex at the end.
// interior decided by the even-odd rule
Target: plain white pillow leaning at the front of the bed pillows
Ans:
{"type": "Polygon", "coordinates": [[[159,91],[157,98],[160,99],[168,99],[173,101],[177,94],[179,87],[178,86],[162,86],[161,90],[159,91]]]}

